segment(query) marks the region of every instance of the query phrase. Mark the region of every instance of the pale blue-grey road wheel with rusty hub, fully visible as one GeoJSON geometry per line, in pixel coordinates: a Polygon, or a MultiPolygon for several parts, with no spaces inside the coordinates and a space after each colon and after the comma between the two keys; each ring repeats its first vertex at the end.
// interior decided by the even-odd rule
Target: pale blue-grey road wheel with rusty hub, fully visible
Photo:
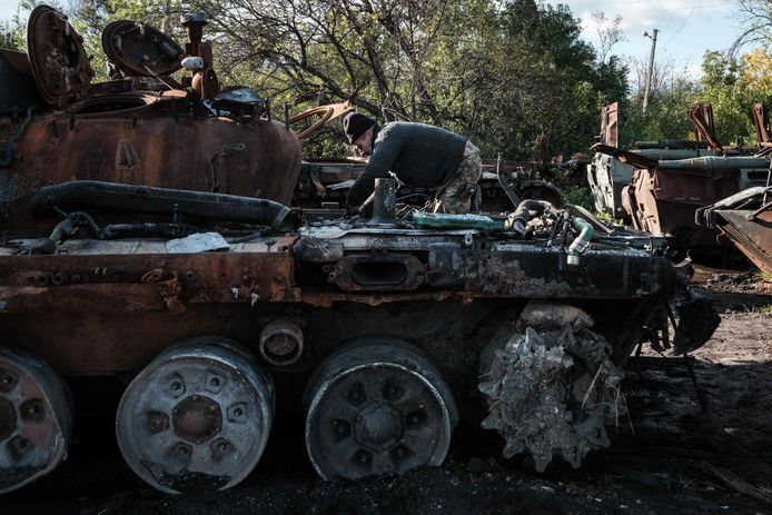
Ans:
{"type": "Polygon", "coordinates": [[[127,388],[118,445],[131,469],[161,492],[230,488],[263,455],[274,398],[271,378],[237,343],[182,340],[127,388]]]}

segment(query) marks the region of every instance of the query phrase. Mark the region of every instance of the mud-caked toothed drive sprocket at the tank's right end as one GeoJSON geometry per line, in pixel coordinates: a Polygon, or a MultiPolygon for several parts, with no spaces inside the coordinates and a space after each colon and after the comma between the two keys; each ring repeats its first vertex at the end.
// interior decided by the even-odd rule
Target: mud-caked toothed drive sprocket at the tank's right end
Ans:
{"type": "Polygon", "coordinates": [[[544,472],[562,456],[577,468],[590,450],[610,445],[605,425],[624,413],[624,373],[592,324],[578,308],[532,304],[487,349],[479,390],[489,414],[482,425],[504,437],[504,457],[529,453],[544,472]]]}

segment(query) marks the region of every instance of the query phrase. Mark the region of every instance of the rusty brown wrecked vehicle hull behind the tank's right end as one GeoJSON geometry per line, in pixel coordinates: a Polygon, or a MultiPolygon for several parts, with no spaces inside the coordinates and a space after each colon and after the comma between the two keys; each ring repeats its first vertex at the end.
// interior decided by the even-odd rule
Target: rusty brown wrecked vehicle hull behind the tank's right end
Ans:
{"type": "Polygon", "coordinates": [[[748,155],[744,149],[721,146],[713,131],[710,106],[693,106],[690,118],[699,136],[710,145],[712,156],[675,158],[667,153],[673,150],[663,150],[663,157],[652,158],[643,150],[593,146],[597,152],[632,167],[630,185],[622,189],[622,206],[633,227],[664,236],[674,257],[690,250],[721,254],[725,246],[716,241],[714,229],[694,222],[694,210],[766,181],[765,159],[748,155]]]}

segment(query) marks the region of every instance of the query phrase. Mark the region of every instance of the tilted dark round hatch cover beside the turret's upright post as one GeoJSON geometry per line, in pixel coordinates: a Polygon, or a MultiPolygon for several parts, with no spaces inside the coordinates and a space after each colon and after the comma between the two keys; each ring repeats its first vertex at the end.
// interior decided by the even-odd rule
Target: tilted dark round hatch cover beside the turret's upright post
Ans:
{"type": "Polygon", "coordinates": [[[170,75],[182,68],[185,57],[185,50],[164,32],[129,20],[105,27],[102,49],[128,76],[170,75]]]}

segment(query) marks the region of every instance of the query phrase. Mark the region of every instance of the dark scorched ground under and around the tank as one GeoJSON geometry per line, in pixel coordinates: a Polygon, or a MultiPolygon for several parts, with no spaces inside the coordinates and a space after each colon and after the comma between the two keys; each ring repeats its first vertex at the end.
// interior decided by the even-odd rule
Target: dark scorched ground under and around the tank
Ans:
{"type": "Polygon", "coordinates": [[[123,464],[112,419],[92,417],[77,422],[68,462],[0,497],[0,513],[772,513],[772,285],[753,274],[695,279],[722,318],[693,355],[697,388],[684,359],[644,353],[624,383],[630,417],[578,471],[553,463],[537,474],[527,459],[502,459],[495,435],[461,427],[439,468],[325,483],[308,464],[301,420],[279,420],[241,485],[169,497],[123,464]]]}

